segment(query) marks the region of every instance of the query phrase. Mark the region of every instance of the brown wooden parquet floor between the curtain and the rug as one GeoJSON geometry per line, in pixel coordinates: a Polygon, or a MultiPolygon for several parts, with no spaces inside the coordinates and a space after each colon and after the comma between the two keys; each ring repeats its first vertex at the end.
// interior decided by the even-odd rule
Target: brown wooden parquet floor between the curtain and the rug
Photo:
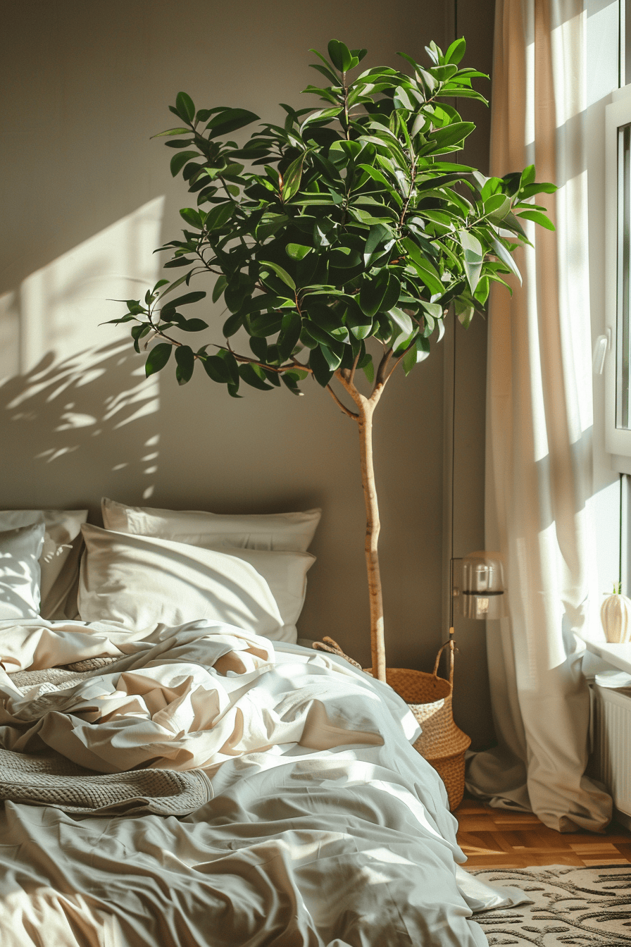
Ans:
{"type": "Polygon", "coordinates": [[[631,864],[631,832],[616,822],[604,835],[587,831],[560,834],[531,813],[491,809],[477,799],[466,798],[454,815],[467,868],[631,864]]]}

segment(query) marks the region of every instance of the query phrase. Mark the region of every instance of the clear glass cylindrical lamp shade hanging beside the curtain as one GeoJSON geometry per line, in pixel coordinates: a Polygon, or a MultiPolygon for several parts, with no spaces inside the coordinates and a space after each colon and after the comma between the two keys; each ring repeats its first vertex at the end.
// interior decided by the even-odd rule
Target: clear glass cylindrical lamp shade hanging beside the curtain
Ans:
{"type": "Polygon", "coordinates": [[[451,596],[465,618],[501,618],[504,570],[497,552],[470,552],[451,560],[451,596]]]}

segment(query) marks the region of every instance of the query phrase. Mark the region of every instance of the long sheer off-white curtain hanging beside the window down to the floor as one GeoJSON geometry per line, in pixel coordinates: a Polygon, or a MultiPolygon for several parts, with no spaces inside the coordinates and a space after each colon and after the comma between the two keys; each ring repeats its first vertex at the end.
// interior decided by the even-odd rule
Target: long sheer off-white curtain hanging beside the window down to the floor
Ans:
{"type": "MultiPolygon", "coordinates": [[[[535,164],[554,233],[528,224],[523,286],[490,302],[486,548],[506,566],[509,616],[489,621],[498,746],[467,787],[532,810],[558,831],[602,831],[611,800],[583,774],[589,697],[573,630],[598,602],[590,518],[591,343],[587,280],[583,0],[497,0],[491,173],[535,164]]],[[[539,199],[537,199],[539,200],[539,199]]]]}

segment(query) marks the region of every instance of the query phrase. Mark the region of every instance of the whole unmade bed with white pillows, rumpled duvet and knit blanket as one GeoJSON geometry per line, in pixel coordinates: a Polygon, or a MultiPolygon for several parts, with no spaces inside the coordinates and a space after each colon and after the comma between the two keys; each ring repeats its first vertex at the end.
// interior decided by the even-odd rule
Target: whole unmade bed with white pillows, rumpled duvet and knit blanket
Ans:
{"type": "Polygon", "coordinates": [[[3,947],[486,944],[407,706],[297,643],[319,515],[0,513],[3,947]]]}

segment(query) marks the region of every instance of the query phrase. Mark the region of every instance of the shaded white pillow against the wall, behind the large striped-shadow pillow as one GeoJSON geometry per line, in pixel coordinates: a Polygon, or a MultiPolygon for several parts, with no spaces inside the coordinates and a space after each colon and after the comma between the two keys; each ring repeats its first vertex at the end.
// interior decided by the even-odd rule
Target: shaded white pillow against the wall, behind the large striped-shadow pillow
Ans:
{"type": "Polygon", "coordinates": [[[189,509],[126,507],[103,497],[103,526],[139,536],[158,536],[178,543],[186,537],[203,536],[206,547],[275,549],[307,552],[320,522],[321,509],[304,513],[260,513],[251,515],[207,513],[189,509]]]}

